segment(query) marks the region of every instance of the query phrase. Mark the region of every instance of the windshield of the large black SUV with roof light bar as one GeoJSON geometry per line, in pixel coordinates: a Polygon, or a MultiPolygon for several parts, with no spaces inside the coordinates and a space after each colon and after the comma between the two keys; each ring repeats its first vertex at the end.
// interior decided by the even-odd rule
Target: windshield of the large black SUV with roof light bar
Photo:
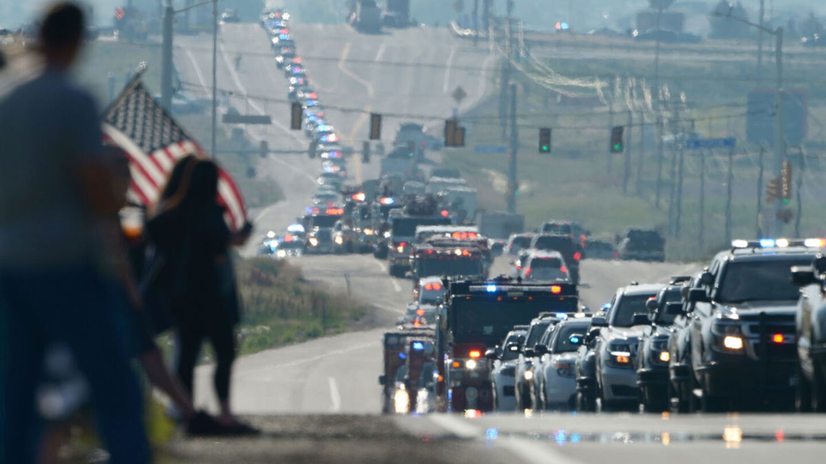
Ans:
{"type": "Polygon", "coordinates": [[[729,263],[719,282],[716,300],[720,303],[796,301],[800,288],[791,283],[790,268],[809,266],[812,258],[809,255],[729,263]]]}

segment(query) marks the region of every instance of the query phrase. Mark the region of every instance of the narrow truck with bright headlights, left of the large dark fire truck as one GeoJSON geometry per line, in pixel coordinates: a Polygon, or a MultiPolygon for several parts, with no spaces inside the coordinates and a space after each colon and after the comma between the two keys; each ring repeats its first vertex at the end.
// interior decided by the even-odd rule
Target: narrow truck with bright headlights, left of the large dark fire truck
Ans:
{"type": "Polygon", "coordinates": [[[432,327],[385,332],[382,346],[382,413],[433,410],[439,374],[432,327]]]}

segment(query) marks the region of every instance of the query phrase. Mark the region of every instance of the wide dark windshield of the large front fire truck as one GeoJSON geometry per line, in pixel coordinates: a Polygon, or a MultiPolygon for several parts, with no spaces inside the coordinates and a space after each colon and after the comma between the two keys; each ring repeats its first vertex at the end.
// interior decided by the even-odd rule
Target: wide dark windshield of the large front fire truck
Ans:
{"type": "MultiPolygon", "coordinates": [[[[491,300],[488,297],[454,297],[453,305],[449,310],[453,341],[455,343],[480,342],[493,345],[513,329],[514,325],[529,324],[543,311],[573,311],[576,310],[575,298],[558,301],[558,299],[535,297],[528,300],[518,297],[515,300],[507,298],[504,301],[491,300]]],[[[545,326],[547,327],[547,325],[545,326]]],[[[533,329],[533,328],[532,328],[533,329]]],[[[534,330],[534,339],[529,343],[536,344],[544,329],[534,330]]],[[[526,344],[525,346],[532,346],[526,344]]]]}

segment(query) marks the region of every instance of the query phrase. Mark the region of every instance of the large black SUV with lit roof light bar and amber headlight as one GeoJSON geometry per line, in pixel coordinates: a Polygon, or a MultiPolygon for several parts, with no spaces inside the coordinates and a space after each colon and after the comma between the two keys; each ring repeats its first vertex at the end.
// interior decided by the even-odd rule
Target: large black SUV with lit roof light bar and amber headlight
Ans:
{"type": "Polygon", "coordinates": [[[791,406],[800,291],[790,268],[810,265],[818,249],[786,239],[732,245],[714,257],[699,288],[688,291],[691,364],[689,372],[676,372],[688,382],[679,390],[699,391],[704,411],[778,406],[786,399],[783,406],[791,406]]]}

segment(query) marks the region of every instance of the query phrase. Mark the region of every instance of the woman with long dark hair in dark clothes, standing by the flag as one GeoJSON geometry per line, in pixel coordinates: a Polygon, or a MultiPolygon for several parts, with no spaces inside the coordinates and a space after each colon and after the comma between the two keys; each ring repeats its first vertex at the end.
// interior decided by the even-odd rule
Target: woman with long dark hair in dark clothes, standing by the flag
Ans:
{"type": "Polygon", "coordinates": [[[217,201],[218,178],[218,167],[209,160],[179,160],[146,223],[146,235],[164,258],[156,278],[173,316],[175,366],[184,388],[192,395],[195,365],[203,342],[209,340],[216,356],[218,421],[230,433],[254,433],[230,411],[234,329],[240,319],[230,247],[249,239],[251,225],[230,231],[217,201]]]}

